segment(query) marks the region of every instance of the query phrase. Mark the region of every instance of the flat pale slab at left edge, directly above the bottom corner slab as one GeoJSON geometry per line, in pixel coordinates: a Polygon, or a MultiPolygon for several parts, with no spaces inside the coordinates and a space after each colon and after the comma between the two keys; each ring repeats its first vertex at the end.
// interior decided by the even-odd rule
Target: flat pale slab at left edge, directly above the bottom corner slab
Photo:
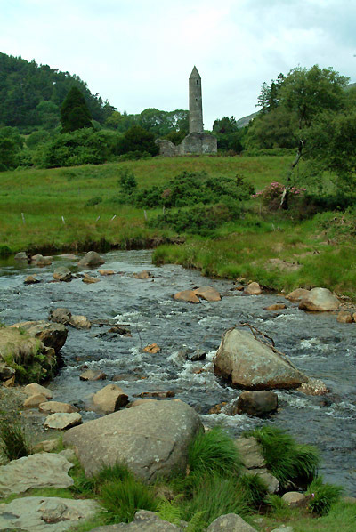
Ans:
{"type": "MultiPolygon", "coordinates": [[[[0,466],[0,496],[24,493],[29,488],[69,488],[73,467],[64,456],[39,453],[0,466]]],[[[2,530],[2,528],[0,528],[2,530]]]]}

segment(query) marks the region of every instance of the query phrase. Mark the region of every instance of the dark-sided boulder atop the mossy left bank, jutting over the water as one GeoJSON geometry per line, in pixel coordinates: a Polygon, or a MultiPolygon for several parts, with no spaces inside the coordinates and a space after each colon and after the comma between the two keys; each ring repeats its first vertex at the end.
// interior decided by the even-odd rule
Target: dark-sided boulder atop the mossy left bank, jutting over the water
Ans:
{"type": "Polygon", "coordinates": [[[45,321],[45,319],[21,321],[20,323],[15,323],[12,327],[27,331],[28,335],[38,338],[45,347],[53,348],[56,353],[66,343],[68,336],[68,329],[64,325],[45,321]]]}

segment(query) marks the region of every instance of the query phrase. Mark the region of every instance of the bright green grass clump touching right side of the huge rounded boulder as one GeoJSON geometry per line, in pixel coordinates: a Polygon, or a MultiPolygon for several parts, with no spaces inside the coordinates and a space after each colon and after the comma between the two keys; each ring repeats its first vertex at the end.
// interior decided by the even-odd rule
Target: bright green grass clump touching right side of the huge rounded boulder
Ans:
{"type": "Polygon", "coordinates": [[[233,439],[220,427],[199,432],[188,449],[190,472],[231,475],[239,472],[241,461],[233,439]]]}

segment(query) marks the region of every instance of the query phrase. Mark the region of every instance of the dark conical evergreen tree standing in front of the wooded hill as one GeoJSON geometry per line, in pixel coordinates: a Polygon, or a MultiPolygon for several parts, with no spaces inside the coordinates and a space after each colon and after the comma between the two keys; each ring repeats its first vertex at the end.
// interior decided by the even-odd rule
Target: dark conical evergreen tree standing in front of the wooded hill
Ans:
{"type": "Polygon", "coordinates": [[[70,133],[84,127],[92,127],[92,117],[85,102],[85,97],[72,87],[61,106],[62,133],[70,133]]]}

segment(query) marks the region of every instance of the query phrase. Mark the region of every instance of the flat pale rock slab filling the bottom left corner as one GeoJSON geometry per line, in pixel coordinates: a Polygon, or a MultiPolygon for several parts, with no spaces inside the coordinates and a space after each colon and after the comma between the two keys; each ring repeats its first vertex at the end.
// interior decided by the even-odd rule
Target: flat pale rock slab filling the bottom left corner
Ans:
{"type": "Polygon", "coordinates": [[[0,504],[0,530],[63,532],[93,518],[99,510],[93,500],[22,497],[0,504]]]}

